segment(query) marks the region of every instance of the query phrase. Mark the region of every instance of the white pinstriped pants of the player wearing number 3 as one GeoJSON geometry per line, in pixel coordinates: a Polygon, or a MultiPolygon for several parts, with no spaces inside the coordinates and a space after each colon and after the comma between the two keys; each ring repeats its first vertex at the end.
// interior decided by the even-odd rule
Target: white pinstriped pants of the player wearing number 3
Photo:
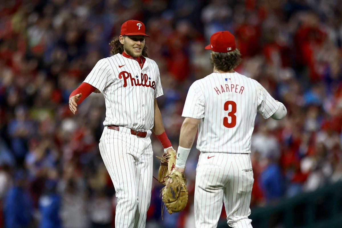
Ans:
{"type": "Polygon", "coordinates": [[[217,227],[223,203],[229,226],[252,228],[248,216],[253,182],[249,154],[201,153],[196,168],[196,228],[217,227]]]}

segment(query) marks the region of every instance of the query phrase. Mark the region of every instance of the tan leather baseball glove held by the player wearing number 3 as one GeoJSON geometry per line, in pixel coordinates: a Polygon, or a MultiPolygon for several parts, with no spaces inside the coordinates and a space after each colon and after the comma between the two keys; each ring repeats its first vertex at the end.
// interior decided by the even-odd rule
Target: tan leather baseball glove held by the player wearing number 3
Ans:
{"type": "Polygon", "coordinates": [[[186,188],[186,178],[184,173],[172,170],[169,175],[172,178],[172,183],[169,183],[168,188],[162,189],[162,201],[164,202],[167,211],[172,214],[180,212],[184,209],[188,202],[188,189],[186,188]]]}

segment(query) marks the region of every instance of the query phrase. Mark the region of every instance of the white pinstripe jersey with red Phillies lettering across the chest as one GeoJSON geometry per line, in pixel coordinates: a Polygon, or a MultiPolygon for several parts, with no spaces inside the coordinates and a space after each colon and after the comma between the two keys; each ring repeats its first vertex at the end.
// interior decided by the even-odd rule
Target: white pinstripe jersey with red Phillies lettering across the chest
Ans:
{"type": "Polygon", "coordinates": [[[154,124],[154,99],[163,95],[159,68],[146,58],[139,63],[121,54],[103,58],[84,80],[105,97],[106,118],[103,125],[118,125],[147,131],[154,124]]]}

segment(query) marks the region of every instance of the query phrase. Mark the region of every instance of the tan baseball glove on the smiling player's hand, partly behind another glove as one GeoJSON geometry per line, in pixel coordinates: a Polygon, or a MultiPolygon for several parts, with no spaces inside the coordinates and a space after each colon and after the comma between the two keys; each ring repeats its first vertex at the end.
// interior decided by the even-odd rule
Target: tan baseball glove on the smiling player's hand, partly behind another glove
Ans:
{"type": "Polygon", "coordinates": [[[177,152],[172,150],[169,153],[164,153],[163,157],[156,156],[160,159],[158,181],[163,185],[166,185],[166,181],[169,179],[169,173],[171,173],[176,164],[176,155],[177,152]]]}

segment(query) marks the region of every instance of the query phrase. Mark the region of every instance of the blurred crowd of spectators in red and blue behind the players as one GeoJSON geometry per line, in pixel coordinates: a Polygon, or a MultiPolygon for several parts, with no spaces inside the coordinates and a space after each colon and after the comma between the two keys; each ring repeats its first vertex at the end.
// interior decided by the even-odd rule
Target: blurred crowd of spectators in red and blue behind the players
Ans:
{"type": "MultiPolygon", "coordinates": [[[[74,116],[70,93],[128,19],[143,21],[160,69],[158,98],[177,148],[187,89],[212,72],[212,33],[229,30],[243,61],[236,71],[283,102],[281,121],[255,120],[251,209],[342,180],[341,0],[5,0],[0,4],[0,227],[114,227],[115,189],[98,151],[104,98],[74,116]]],[[[152,136],[156,156],[162,147],[152,136]]],[[[146,227],[193,227],[189,203],[161,219],[154,180],[146,227]]],[[[154,176],[159,160],[154,160],[154,176]]],[[[222,219],[225,213],[222,213],[222,219]]]]}

